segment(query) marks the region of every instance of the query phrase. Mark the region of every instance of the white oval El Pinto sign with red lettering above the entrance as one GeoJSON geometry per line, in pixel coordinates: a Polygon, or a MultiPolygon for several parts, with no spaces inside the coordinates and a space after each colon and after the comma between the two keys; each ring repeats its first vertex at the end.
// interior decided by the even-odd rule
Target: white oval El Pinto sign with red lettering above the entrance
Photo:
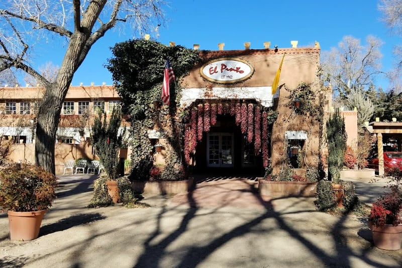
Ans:
{"type": "Polygon", "coordinates": [[[219,58],[203,65],[199,72],[211,82],[230,84],[248,79],[254,67],[239,58],[219,58]]]}

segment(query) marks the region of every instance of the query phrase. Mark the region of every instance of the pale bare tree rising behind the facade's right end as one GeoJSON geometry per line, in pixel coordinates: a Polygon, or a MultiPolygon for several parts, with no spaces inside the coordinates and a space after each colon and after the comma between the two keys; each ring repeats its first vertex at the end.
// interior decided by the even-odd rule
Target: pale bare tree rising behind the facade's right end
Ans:
{"type": "Polygon", "coordinates": [[[323,80],[331,84],[335,97],[346,100],[351,89],[365,90],[380,74],[382,42],[368,36],[365,46],[352,36],[345,36],[337,48],[322,53],[323,80]]]}

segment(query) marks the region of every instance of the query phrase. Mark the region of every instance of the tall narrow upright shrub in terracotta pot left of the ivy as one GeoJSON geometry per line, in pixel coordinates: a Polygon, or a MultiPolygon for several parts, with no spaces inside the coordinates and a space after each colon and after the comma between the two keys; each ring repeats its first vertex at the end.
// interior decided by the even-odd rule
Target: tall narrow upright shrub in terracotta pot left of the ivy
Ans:
{"type": "Polygon", "coordinates": [[[118,173],[120,170],[119,152],[126,132],[125,128],[123,131],[120,131],[121,122],[122,110],[120,105],[117,105],[113,108],[109,122],[107,121],[106,114],[99,111],[98,115],[94,118],[91,128],[92,146],[95,148],[100,162],[105,167],[106,184],[114,203],[121,201],[117,178],[119,177],[118,173]]]}

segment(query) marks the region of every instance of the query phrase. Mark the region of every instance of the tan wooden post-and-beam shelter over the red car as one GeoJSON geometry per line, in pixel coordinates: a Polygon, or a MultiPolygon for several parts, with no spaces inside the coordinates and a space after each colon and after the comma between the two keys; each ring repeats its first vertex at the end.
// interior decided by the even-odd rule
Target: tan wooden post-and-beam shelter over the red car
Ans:
{"type": "Polygon", "coordinates": [[[377,136],[378,148],[378,175],[384,175],[384,155],[383,155],[383,140],[394,138],[397,141],[397,151],[401,152],[402,145],[402,122],[371,122],[373,133],[377,136]]]}

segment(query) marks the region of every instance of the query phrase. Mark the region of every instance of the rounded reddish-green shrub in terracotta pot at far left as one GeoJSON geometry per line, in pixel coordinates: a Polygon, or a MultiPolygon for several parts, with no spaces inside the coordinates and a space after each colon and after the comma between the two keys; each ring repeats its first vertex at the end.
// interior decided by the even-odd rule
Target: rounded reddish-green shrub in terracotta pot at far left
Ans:
{"type": "Polygon", "coordinates": [[[13,164],[0,170],[0,209],[8,210],[11,240],[33,240],[56,198],[57,178],[41,167],[13,164]]]}

